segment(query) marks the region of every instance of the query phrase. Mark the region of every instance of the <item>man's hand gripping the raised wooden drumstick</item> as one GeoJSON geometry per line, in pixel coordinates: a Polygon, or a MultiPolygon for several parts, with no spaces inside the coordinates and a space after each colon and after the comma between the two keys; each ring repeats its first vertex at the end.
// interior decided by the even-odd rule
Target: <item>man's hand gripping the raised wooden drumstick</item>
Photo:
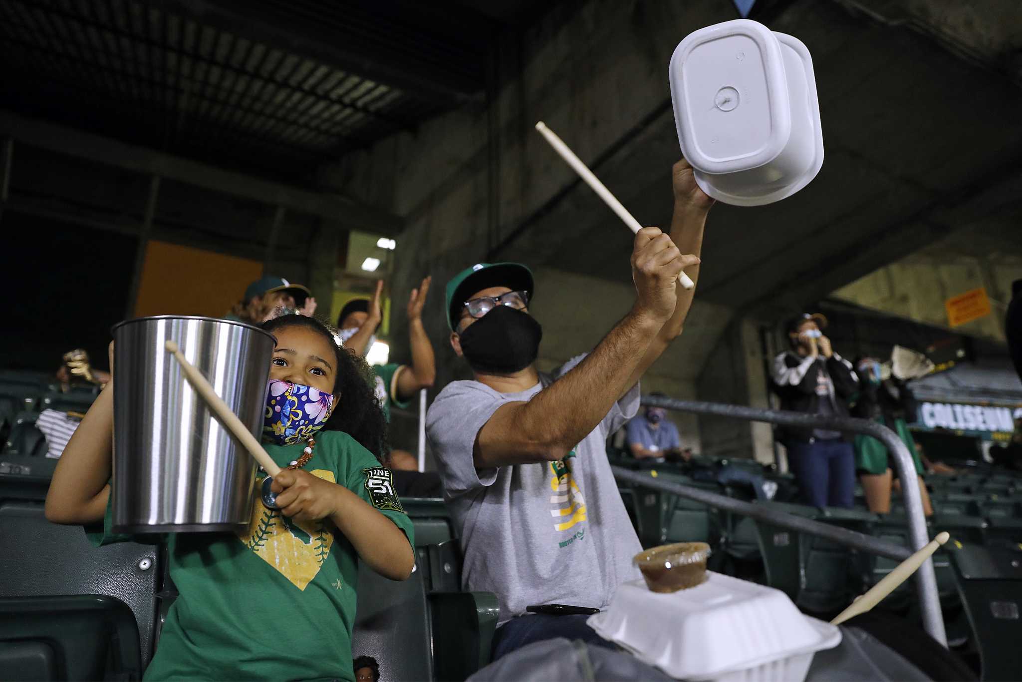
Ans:
{"type": "Polygon", "coordinates": [[[678,303],[678,273],[699,263],[695,256],[683,256],[669,236],[657,227],[644,227],[636,233],[632,248],[632,279],[638,301],[636,306],[666,321],[678,303]]]}

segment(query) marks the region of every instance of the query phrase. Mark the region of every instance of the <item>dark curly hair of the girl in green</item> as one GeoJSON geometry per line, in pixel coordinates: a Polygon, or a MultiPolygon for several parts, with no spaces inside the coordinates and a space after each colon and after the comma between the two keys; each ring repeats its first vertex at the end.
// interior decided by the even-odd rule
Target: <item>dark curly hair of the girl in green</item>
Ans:
{"type": "Polygon", "coordinates": [[[337,356],[337,376],[333,384],[333,413],[323,430],[344,431],[385,464],[390,452],[387,423],[373,393],[373,371],[365,359],[338,346],[330,326],[313,317],[282,315],[264,322],[262,327],[270,333],[286,327],[305,327],[330,343],[337,356]]]}

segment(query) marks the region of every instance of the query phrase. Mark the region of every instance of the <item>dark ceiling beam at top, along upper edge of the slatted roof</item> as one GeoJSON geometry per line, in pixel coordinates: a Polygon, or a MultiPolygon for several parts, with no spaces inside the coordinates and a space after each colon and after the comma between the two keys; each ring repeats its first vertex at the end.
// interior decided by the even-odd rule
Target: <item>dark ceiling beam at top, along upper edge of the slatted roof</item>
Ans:
{"type": "MultiPolygon", "coordinates": [[[[384,45],[352,49],[343,35],[295,14],[274,11],[259,2],[217,0],[136,0],[164,12],[191,17],[203,25],[285,52],[383,83],[424,101],[450,105],[476,98],[483,80],[470,78],[396,55],[384,45]]],[[[380,26],[381,34],[386,32],[380,26]]]]}

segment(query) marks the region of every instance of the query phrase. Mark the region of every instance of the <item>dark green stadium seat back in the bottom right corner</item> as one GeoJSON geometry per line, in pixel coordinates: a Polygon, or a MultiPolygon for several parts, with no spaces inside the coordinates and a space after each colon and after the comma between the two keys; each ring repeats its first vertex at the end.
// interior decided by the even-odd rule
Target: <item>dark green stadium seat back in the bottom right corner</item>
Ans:
{"type": "Polygon", "coordinates": [[[980,679],[1019,679],[1022,552],[964,545],[948,554],[979,649],[980,679]]]}

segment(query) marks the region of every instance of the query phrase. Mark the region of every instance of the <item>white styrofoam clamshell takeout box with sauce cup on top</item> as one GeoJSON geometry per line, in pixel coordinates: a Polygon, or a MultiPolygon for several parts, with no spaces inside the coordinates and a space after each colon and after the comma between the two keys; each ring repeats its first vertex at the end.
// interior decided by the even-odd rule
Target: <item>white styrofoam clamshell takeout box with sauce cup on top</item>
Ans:
{"type": "Polygon", "coordinates": [[[803,616],[784,592],[707,571],[668,594],[641,581],[617,588],[591,628],[680,680],[800,682],[812,654],[837,646],[836,626],[803,616]]]}

